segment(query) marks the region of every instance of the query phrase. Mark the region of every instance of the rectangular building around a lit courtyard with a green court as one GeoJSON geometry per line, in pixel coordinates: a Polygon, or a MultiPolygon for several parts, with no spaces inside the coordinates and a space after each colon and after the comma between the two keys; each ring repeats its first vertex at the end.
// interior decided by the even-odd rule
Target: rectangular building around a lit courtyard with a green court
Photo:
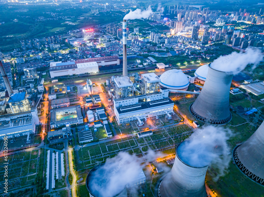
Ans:
{"type": "Polygon", "coordinates": [[[81,106],[74,105],[70,107],[55,108],[50,110],[50,127],[69,126],[71,124],[82,124],[83,117],[81,106]]]}

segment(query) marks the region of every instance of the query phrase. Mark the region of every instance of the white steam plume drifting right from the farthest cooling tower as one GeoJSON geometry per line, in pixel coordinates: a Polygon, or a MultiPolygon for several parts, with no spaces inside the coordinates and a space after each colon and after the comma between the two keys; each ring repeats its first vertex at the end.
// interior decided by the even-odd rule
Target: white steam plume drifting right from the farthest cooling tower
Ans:
{"type": "Polygon", "coordinates": [[[261,55],[260,50],[248,48],[245,53],[233,52],[229,55],[220,56],[210,66],[215,70],[232,72],[235,75],[244,70],[248,64],[254,64],[252,67],[254,69],[262,59],[263,55],[261,55]]]}

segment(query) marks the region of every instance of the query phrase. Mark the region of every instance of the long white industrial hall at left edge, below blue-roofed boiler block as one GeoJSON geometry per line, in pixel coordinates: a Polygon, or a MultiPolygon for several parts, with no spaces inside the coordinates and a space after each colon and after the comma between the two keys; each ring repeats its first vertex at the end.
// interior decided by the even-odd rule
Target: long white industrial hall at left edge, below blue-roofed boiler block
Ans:
{"type": "Polygon", "coordinates": [[[0,139],[3,139],[5,135],[12,138],[35,133],[38,124],[39,117],[35,111],[2,115],[0,116],[0,139]]]}

